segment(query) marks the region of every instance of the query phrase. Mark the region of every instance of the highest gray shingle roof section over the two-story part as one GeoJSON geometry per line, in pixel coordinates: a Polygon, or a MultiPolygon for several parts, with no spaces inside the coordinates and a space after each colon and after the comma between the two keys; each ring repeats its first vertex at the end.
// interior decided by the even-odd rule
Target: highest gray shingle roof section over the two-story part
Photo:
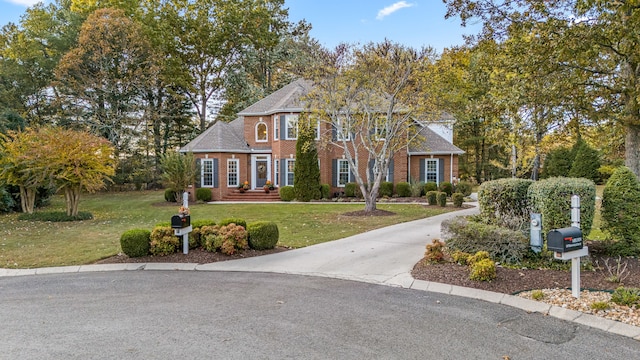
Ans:
{"type": "Polygon", "coordinates": [[[238,113],[238,116],[271,115],[277,112],[301,112],[304,102],[301,100],[311,90],[311,81],[298,79],[289,85],[276,90],[271,95],[258,101],[238,113]]]}

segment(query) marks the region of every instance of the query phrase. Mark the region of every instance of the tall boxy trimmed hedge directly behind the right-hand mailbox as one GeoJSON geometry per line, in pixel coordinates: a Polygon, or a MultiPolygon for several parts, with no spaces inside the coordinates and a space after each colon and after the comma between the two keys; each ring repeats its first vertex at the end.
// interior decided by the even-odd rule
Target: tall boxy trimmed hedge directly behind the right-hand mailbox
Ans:
{"type": "MultiPolygon", "coordinates": [[[[596,209],[596,185],[583,178],[549,178],[536,182],[528,189],[532,212],[542,214],[543,234],[551,229],[571,225],[571,196],[580,196],[580,228],[587,235],[591,231],[596,209]]],[[[529,217],[527,217],[527,222],[529,217]]],[[[526,229],[529,228],[527,224],[526,229]]]]}

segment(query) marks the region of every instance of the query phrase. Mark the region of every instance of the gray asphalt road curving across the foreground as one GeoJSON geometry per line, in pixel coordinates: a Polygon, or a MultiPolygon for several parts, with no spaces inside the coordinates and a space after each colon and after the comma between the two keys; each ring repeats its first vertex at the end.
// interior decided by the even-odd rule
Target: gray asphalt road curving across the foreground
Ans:
{"type": "Polygon", "coordinates": [[[245,272],[0,278],[0,359],[637,359],[640,342],[485,301],[245,272]]]}

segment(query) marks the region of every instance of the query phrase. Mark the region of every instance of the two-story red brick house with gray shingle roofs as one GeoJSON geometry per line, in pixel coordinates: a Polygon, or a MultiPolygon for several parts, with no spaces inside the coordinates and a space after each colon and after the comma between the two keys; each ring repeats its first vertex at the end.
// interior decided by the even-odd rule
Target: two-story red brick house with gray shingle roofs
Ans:
{"type": "MultiPolygon", "coordinates": [[[[304,111],[301,97],[310,87],[310,82],[296,80],[244,109],[232,122],[217,122],[182,147],[180,152],[193,152],[198,159],[201,176],[196,187],[210,188],[212,199],[222,200],[245,181],[251,189],[261,189],[267,181],[277,187],[293,185],[297,119],[304,111]]],[[[458,157],[464,152],[453,145],[452,122],[450,117],[429,125],[416,122],[422,143],[396,153],[386,180],[440,183],[457,178],[458,157]]],[[[318,134],[323,125],[318,124],[318,134]]],[[[331,185],[331,193],[342,192],[353,181],[342,149],[318,147],[318,160],[320,181],[331,185]]]]}

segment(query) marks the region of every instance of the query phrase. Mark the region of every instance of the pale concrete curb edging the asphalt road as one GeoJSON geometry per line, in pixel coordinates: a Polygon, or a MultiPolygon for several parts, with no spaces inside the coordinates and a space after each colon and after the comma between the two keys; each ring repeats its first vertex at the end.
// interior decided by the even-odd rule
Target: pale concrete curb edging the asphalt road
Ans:
{"type": "MultiPolygon", "coordinates": [[[[206,264],[205,264],[206,265],[206,264]]],[[[38,269],[4,269],[0,268],[0,278],[29,275],[48,274],[69,274],[84,272],[105,272],[105,271],[219,271],[207,270],[204,265],[195,263],[125,263],[125,264],[103,264],[103,265],[80,265],[80,266],[57,266],[38,269]]],[[[260,271],[262,272],[262,271],[260,271]]],[[[461,296],[476,300],[488,301],[495,304],[502,304],[526,312],[537,312],[540,314],[553,316],[558,319],[574,322],[577,324],[600,329],[613,334],[633,338],[640,341],[640,327],[633,326],[618,321],[605,319],[599,316],[584,314],[579,311],[564,309],[559,306],[552,306],[534,300],[524,299],[518,296],[496,293],[492,291],[466,288],[461,286],[442,284],[437,282],[415,280],[411,274],[398,274],[391,279],[377,277],[339,276],[335,274],[321,273],[299,273],[299,272],[279,272],[288,275],[304,275],[330,277],[340,280],[360,281],[376,285],[386,285],[405,289],[429,291],[446,295],[461,296]]]]}

